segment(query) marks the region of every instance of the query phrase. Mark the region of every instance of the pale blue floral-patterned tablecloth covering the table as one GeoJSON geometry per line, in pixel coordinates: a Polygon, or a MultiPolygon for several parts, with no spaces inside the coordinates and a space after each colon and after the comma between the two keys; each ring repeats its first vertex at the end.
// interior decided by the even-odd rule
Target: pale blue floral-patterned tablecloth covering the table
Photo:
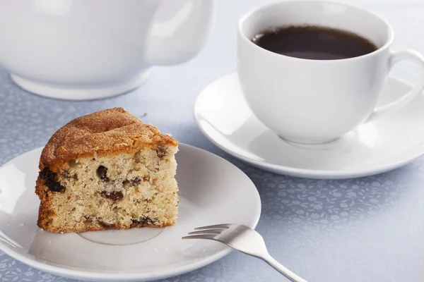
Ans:
{"type": "MultiPolygon", "coordinates": [[[[211,144],[196,127],[194,101],[203,87],[235,71],[237,18],[264,0],[216,1],[208,43],[194,60],[155,68],[134,92],[91,102],[29,94],[0,69],[0,164],[45,145],[72,118],[123,106],[177,140],[228,159],[245,171],[261,195],[257,231],[271,255],[308,281],[423,281],[424,158],[389,173],[350,180],[307,180],[253,168],[211,144]]],[[[394,27],[396,48],[424,52],[424,1],[354,0],[394,27]]],[[[401,65],[394,75],[413,80],[401,65]]],[[[141,254],[142,255],[142,254],[141,254]]],[[[0,252],[2,281],[71,281],[46,274],[0,252]]],[[[284,281],[264,262],[232,252],[209,266],[165,281],[284,281]]]]}

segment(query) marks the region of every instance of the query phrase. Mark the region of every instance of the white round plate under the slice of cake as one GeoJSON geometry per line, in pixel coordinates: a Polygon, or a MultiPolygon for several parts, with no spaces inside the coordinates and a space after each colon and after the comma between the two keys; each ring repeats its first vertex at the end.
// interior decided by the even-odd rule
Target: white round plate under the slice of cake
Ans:
{"type": "Polygon", "coordinates": [[[182,240],[195,227],[256,227],[261,200],[252,181],[228,161],[189,145],[177,153],[179,220],[166,228],[50,233],[37,228],[34,193],[40,149],[0,168],[0,249],[52,274],[90,281],[150,281],[183,274],[230,252],[211,240],[182,240]]]}

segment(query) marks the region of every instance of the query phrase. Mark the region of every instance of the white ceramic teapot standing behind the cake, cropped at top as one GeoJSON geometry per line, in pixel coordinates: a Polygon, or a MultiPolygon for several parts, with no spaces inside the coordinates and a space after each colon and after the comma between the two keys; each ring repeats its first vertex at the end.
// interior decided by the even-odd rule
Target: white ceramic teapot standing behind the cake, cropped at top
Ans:
{"type": "Polygon", "coordinates": [[[96,99],[132,90],[151,66],[192,59],[213,0],[0,0],[0,64],[25,90],[96,99]]]}

